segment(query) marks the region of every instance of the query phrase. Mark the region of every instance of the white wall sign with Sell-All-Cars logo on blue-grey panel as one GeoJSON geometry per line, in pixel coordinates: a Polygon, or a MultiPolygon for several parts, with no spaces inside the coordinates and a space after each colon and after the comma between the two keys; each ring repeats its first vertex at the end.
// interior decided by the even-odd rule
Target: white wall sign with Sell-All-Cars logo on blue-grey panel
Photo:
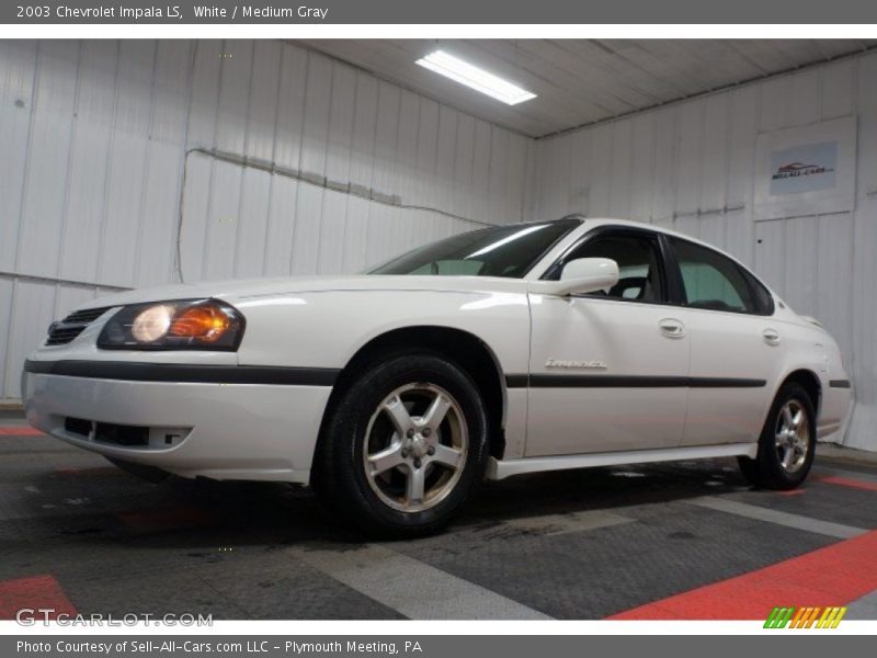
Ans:
{"type": "Polygon", "coordinates": [[[762,133],[755,157],[755,219],[855,208],[854,116],[762,133]]]}

